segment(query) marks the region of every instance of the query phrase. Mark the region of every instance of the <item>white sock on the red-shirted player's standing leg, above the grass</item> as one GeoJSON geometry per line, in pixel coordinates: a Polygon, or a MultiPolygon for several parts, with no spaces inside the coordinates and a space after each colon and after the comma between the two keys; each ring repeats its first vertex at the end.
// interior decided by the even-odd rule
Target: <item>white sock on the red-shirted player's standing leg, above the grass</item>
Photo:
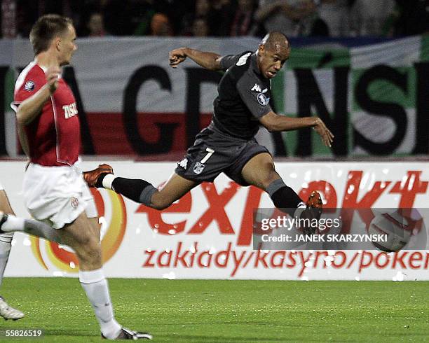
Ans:
{"type": "Polygon", "coordinates": [[[103,336],[108,339],[115,339],[121,331],[121,325],[114,318],[109,287],[102,269],[80,271],[79,280],[93,307],[103,336]]]}

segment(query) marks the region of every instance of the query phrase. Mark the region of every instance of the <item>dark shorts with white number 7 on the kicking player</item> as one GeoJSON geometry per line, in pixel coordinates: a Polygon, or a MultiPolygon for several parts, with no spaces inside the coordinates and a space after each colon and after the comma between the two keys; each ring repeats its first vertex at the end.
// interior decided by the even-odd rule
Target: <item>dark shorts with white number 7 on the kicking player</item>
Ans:
{"type": "Polygon", "coordinates": [[[193,146],[177,163],[175,173],[198,183],[213,182],[222,172],[241,186],[249,186],[241,170],[254,155],[269,153],[256,139],[238,139],[209,128],[196,135],[193,146]]]}

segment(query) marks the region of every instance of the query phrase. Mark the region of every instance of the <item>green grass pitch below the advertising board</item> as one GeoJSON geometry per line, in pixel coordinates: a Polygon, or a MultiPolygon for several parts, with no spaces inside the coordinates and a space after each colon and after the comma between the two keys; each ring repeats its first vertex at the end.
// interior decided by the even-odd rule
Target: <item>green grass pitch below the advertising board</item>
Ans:
{"type": "MultiPolygon", "coordinates": [[[[429,340],[429,282],[110,279],[109,286],[119,323],[151,332],[154,342],[429,340]]],[[[1,321],[0,330],[41,328],[39,342],[101,341],[77,279],[8,278],[1,294],[26,316],[1,321]]]]}

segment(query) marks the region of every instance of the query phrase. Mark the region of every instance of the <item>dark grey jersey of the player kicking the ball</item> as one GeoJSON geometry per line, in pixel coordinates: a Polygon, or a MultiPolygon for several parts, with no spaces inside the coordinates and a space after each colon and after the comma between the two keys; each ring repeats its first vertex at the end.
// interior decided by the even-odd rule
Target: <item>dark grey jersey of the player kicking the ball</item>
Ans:
{"type": "Polygon", "coordinates": [[[221,66],[226,73],[217,86],[213,123],[233,137],[252,139],[259,130],[259,118],[272,111],[270,80],[261,75],[251,51],[224,56],[221,66]]]}

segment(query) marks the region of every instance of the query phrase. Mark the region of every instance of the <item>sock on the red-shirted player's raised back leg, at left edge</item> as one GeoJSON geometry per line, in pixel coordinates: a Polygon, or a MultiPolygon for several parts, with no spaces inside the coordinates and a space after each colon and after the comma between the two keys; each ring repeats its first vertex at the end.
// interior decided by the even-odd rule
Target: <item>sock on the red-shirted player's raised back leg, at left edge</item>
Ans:
{"type": "Polygon", "coordinates": [[[1,230],[6,232],[25,232],[29,235],[61,243],[61,239],[57,231],[49,225],[41,221],[35,221],[34,219],[19,218],[12,214],[8,214],[8,220],[1,225],[1,230]]]}

